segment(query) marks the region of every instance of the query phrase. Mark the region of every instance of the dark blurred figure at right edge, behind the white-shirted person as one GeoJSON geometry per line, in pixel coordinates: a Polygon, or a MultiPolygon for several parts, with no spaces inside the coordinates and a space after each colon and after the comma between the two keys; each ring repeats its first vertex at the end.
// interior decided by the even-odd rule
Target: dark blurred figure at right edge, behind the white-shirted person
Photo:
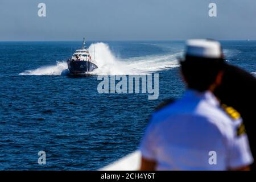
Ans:
{"type": "MultiPolygon", "coordinates": [[[[234,107],[245,124],[253,158],[256,158],[256,78],[233,65],[225,65],[221,85],[214,91],[221,104],[234,107]]],[[[256,170],[255,162],[251,170],[256,170]]]]}

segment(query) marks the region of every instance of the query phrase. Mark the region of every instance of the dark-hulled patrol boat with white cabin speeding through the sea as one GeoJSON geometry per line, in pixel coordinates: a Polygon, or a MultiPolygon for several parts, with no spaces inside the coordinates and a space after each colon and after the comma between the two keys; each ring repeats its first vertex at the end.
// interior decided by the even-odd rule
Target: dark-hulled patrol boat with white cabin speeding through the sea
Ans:
{"type": "MultiPolygon", "coordinates": [[[[95,49],[94,49],[95,57],[95,49]]],[[[73,75],[81,75],[92,72],[98,68],[95,60],[92,60],[88,48],[85,47],[85,38],[82,42],[82,49],[77,49],[71,59],[67,60],[69,72],[73,75]]]]}

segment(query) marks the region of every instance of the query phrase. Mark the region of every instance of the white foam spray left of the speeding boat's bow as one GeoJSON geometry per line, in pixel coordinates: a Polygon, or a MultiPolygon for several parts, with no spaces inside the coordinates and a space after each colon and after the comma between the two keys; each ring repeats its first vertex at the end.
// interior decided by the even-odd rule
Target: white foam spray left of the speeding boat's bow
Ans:
{"type": "Polygon", "coordinates": [[[66,61],[56,61],[56,65],[27,70],[19,73],[19,75],[67,75],[68,73],[66,61]]]}

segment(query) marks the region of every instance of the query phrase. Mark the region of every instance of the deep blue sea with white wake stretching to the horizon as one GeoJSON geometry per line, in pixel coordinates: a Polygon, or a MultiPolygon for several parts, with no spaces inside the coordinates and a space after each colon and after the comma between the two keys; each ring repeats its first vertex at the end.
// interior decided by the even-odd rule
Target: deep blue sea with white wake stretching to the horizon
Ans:
{"type": "MultiPolygon", "coordinates": [[[[230,64],[256,72],[255,41],[221,43],[230,64]]],[[[0,42],[0,169],[101,168],[137,150],[154,107],[183,94],[184,42],[96,43],[93,56],[94,45],[99,69],[72,77],[64,60],[81,42],[0,42]],[[159,73],[158,100],[97,92],[98,75],[144,73],[159,73]]]]}

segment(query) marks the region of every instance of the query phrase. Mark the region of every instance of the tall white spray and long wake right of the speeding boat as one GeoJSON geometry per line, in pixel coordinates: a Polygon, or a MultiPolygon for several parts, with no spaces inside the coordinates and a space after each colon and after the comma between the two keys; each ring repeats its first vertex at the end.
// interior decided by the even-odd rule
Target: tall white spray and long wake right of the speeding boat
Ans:
{"type": "Polygon", "coordinates": [[[176,54],[133,57],[121,61],[112,54],[105,43],[96,43],[89,47],[92,59],[94,59],[94,46],[98,69],[95,69],[92,74],[96,75],[138,75],[179,66],[176,54]]]}

